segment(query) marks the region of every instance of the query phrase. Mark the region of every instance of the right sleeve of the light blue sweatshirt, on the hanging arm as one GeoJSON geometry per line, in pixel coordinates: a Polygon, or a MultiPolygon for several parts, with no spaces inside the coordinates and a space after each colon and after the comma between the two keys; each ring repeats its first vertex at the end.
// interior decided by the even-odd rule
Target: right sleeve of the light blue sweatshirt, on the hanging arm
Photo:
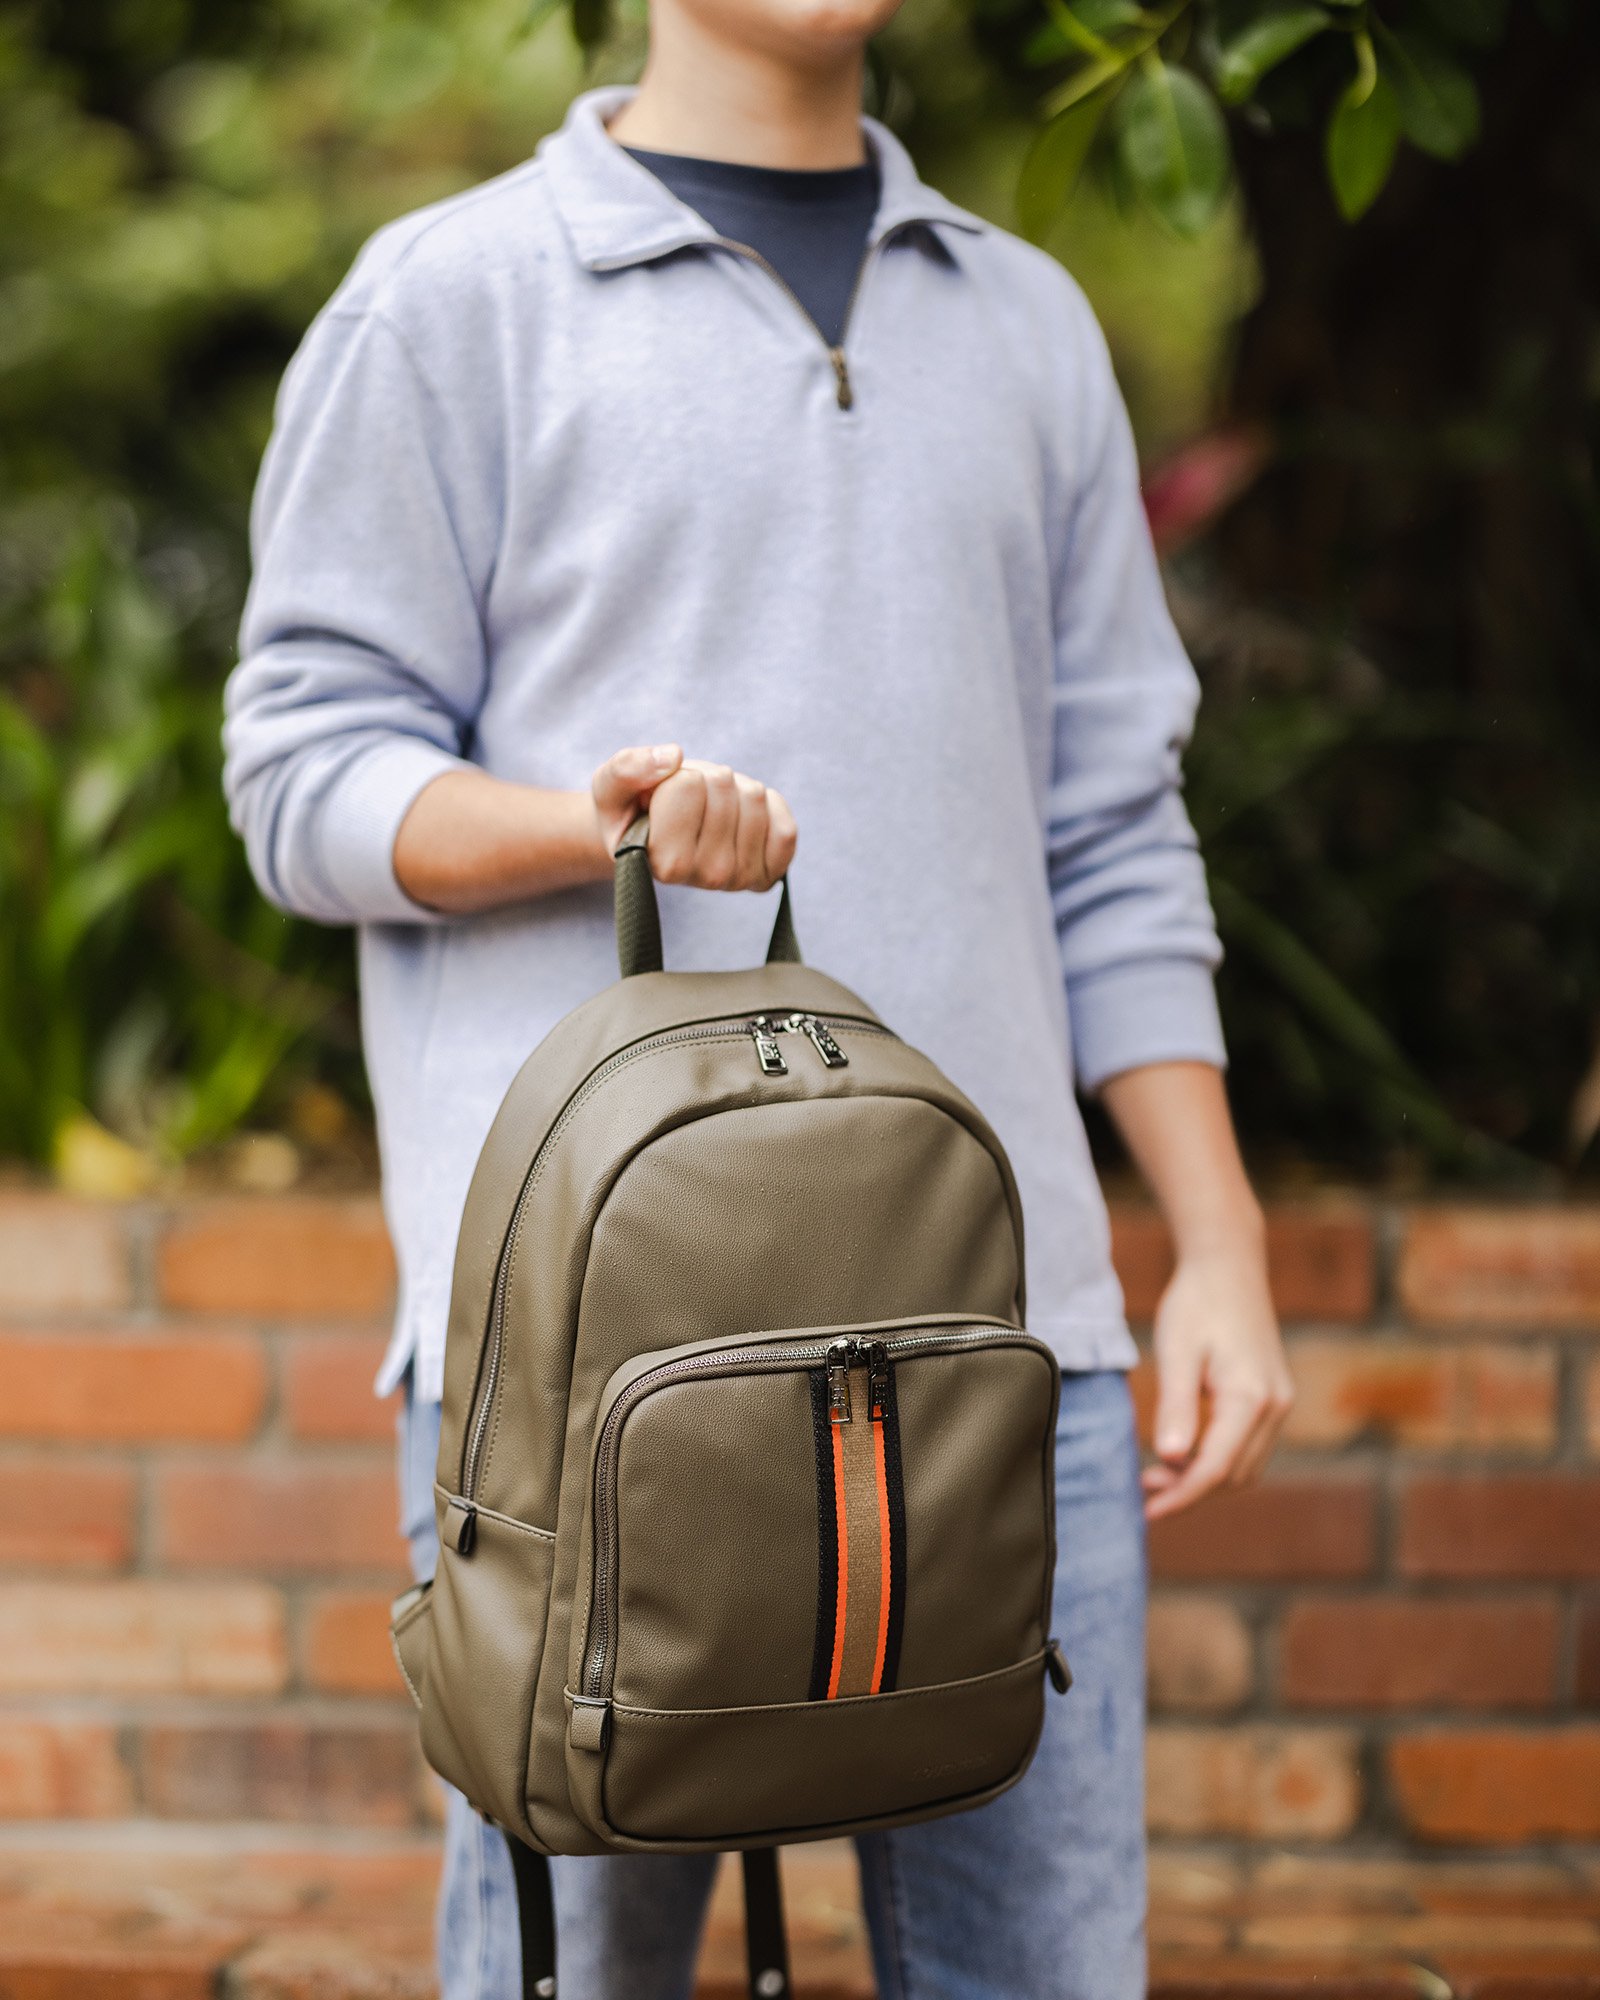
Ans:
{"type": "Polygon", "coordinates": [[[1078,1080],[1148,1062],[1224,1066],[1222,958],[1182,752],[1198,682],[1166,608],[1128,412],[1088,304],[1076,476],[1058,566],[1050,894],[1078,1080]]]}

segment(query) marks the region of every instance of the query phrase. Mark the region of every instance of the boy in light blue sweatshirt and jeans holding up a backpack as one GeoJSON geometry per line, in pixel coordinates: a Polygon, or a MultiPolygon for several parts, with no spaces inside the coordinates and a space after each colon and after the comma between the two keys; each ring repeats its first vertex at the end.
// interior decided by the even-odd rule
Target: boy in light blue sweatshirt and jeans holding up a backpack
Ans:
{"type": "MultiPolygon", "coordinates": [[[[862,122],[892,12],[654,0],[638,92],[366,248],[280,398],[228,790],[264,890],[360,926],[422,1572],[466,1184],[526,1052],[614,978],[616,840],[648,802],[668,962],[740,964],[764,898],[704,890],[768,890],[798,822],[806,952],[998,1128],[1064,1370],[1078,1684],[1006,1798],[860,1842],[878,1982],[1130,2000],[1142,1514],[1252,1478],[1290,1390],[1122,404],[1064,272],[862,122]],[[1178,1246],[1142,1476],[1074,1082],[1178,1246]]],[[[710,1874],[558,1862],[568,2000],[688,1994],[710,1874]]],[[[504,1842],[460,1798],[440,1972],[520,1990],[504,1842]]]]}

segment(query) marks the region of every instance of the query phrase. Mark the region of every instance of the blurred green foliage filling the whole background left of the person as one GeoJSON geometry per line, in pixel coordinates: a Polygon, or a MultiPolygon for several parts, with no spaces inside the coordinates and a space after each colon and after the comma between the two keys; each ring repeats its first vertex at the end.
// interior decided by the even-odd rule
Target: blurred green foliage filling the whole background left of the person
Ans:
{"type": "Polygon", "coordinates": [[[0,14],[0,1154],[166,1156],[360,1092],[348,940],[256,896],[220,688],[272,394],[392,214],[526,156],[560,20],[468,0],[0,14]]]}

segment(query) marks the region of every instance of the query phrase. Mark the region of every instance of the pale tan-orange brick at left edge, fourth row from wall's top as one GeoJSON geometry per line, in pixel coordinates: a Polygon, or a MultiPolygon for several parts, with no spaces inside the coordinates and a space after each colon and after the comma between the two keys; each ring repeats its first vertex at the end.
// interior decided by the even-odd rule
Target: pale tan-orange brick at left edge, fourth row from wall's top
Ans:
{"type": "Polygon", "coordinates": [[[284,1604],[264,1584],[0,1584],[0,1694],[276,1694],[284,1604]]]}

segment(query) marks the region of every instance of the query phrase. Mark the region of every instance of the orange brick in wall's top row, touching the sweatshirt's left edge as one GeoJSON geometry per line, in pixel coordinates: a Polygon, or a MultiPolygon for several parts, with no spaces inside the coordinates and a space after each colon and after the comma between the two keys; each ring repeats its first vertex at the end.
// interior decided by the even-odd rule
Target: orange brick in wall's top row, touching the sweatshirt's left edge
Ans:
{"type": "Polygon", "coordinates": [[[372,1200],[230,1200],[172,1218],[156,1276],[186,1312],[372,1320],[390,1304],[394,1258],[372,1200]]]}

